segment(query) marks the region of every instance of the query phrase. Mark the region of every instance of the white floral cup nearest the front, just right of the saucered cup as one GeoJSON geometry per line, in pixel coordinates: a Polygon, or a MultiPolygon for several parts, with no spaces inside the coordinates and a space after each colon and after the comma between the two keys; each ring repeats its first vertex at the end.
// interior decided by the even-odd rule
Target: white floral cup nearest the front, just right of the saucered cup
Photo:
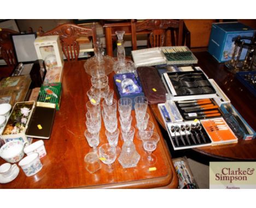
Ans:
{"type": "Polygon", "coordinates": [[[26,176],[38,173],[43,167],[37,152],[24,157],[19,162],[19,166],[22,168],[26,176]]]}

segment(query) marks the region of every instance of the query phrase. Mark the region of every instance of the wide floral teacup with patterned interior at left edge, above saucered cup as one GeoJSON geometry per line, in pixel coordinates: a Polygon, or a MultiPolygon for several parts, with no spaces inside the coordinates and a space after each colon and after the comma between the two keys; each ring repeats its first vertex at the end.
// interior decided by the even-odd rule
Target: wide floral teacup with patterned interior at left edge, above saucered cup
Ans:
{"type": "Polygon", "coordinates": [[[24,146],[28,142],[21,142],[20,140],[12,140],[5,143],[0,149],[0,157],[10,163],[19,162],[24,156],[24,146]]]}

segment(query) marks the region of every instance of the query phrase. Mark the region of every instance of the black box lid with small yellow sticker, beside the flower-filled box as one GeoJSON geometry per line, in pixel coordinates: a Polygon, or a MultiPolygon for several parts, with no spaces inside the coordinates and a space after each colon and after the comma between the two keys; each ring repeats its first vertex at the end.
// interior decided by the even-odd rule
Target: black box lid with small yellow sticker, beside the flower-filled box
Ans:
{"type": "Polygon", "coordinates": [[[49,139],[55,117],[55,104],[37,102],[26,130],[27,137],[49,139]]]}

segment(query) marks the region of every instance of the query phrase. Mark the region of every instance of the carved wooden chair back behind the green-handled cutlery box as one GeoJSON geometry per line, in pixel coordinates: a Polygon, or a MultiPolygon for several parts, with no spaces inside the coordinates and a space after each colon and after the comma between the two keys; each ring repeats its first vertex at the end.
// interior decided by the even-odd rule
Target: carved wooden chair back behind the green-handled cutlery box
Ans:
{"type": "Polygon", "coordinates": [[[149,31],[148,47],[181,46],[183,37],[183,20],[131,20],[132,50],[137,50],[136,33],[149,31]],[[151,31],[151,32],[150,32],[151,31]],[[172,36],[171,38],[168,38],[172,36]]]}

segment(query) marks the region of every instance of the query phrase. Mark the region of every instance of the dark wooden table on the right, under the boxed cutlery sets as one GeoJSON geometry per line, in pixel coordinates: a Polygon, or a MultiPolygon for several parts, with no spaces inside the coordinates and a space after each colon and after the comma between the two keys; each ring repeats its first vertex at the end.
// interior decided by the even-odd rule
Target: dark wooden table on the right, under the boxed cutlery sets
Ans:
{"type": "MultiPolygon", "coordinates": [[[[226,70],[225,65],[218,63],[208,52],[195,52],[199,59],[198,66],[213,78],[224,93],[229,97],[231,104],[237,109],[247,123],[256,130],[256,98],[243,84],[236,79],[235,74],[226,70]]],[[[165,127],[157,105],[152,105],[152,110],[159,123],[165,127]]],[[[239,139],[236,144],[206,146],[193,150],[203,155],[217,157],[224,160],[256,160],[256,139],[239,139]]]]}

